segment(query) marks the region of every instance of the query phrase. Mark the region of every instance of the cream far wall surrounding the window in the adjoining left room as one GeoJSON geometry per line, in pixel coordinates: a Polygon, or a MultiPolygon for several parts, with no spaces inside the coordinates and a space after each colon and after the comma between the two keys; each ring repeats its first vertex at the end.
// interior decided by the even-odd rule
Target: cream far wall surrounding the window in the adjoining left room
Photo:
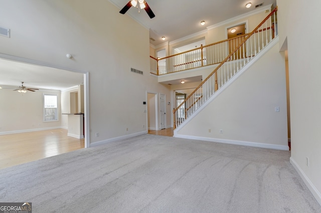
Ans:
{"type": "Polygon", "coordinates": [[[43,93],[57,94],[60,105],[59,90],[20,93],[13,89],[0,89],[0,134],[59,128],[60,113],[58,121],[43,121],[43,93]]]}

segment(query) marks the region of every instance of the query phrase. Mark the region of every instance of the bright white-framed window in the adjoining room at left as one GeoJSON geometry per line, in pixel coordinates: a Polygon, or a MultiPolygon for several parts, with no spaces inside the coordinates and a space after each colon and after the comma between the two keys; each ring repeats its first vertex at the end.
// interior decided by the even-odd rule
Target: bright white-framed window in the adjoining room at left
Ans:
{"type": "Polygon", "coordinates": [[[44,121],[58,120],[58,95],[44,94],[44,121]]]}

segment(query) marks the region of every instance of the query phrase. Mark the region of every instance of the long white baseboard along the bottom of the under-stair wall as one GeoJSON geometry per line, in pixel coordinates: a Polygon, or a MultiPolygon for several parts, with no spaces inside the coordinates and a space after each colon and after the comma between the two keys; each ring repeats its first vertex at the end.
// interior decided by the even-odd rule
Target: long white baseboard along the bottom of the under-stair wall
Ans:
{"type": "Polygon", "coordinates": [[[200,137],[200,136],[190,136],[190,135],[183,135],[183,134],[175,134],[174,137],[180,137],[185,139],[194,139],[194,140],[205,140],[210,142],[220,142],[220,143],[228,143],[228,144],[235,144],[235,145],[246,145],[246,146],[253,146],[253,147],[260,147],[260,148],[272,148],[278,150],[289,150],[287,145],[278,145],[278,144],[269,144],[269,143],[260,143],[260,142],[249,142],[249,141],[241,141],[241,140],[229,140],[229,139],[219,139],[219,138],[211,138],[211,137],[200,137]]]}

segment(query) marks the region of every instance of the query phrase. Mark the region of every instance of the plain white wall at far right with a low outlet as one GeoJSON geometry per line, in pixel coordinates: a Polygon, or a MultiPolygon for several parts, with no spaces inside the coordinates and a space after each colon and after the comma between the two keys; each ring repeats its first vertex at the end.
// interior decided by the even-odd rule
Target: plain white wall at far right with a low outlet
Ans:
{"type": "Polygon", "coordinates": [[[278,0],[277,3],[280,37],[282,41],[287,38],[291,163],[321,204],[321,1],[278,0]]]}

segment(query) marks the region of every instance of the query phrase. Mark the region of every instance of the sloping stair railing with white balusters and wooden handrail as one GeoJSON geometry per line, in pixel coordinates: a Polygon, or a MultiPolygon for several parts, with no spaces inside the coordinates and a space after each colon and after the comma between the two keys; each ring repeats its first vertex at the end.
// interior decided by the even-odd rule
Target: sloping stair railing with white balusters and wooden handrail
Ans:
{"type": "Polygon", "coordinates": [[[247,36],[239,36],[239,40],[230,40],[228,47],[223,47],[227,48],[226,51],[229,52],[228,56],[177,108],[173,109],[174,128],[181,125],[220,87],[272,41],[277,34],[275,30],[276,11],[277,7],[247,36]],[[182,113],[182,110],[184,110],[185,113],[182,113]]]}

